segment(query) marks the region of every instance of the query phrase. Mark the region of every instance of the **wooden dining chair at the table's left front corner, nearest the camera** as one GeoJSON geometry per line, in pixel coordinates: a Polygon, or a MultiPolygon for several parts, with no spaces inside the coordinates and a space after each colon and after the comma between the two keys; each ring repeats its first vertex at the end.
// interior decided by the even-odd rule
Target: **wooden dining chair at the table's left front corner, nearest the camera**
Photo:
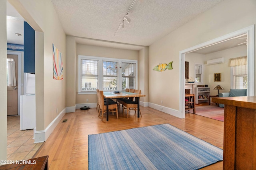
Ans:
{"type": "MultiPolygon", "coordinates": [[[[100,110],[102,110],[102,116],[101,116],[101,120],[102,120],[103,114],[107,111],[107,104],[106,104],[106,102],[104,102],[103,91],[98,90],[98,94],[99,94],[99,98],[100,98],[100,110]]],[[[118,119],[117,102],[114,102],[113,100],[109,100],[108,101],[108,111],[112,112],[113,115],[114,115],[114,112],[116,112],[116,118],[118,119]],[[116,109],[116,111],[114,111],[114,109],[116,109]]],[[[99,111],[98,117],[100,117],[100,111],[99,111]]]]}

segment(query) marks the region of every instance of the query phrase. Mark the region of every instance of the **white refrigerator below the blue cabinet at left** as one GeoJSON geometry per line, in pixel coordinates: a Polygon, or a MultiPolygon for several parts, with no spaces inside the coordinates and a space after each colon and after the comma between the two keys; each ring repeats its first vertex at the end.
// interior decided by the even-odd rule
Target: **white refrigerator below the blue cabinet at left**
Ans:
{"type": "Polygon", "coordinates": [[[35,74],[24,73],[24,95],[20,95],[20,130],[36,128],[35,74]]]}

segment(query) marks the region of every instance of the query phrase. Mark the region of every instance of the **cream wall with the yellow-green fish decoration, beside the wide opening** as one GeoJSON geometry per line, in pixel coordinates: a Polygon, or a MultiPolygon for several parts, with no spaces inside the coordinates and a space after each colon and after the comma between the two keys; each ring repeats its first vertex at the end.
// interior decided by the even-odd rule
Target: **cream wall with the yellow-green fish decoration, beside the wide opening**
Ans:
{"type": "Polygon", "coordinates": [[[150,103],[179,110],[179,52],[256,23],[255,0],[225,0],[149,47],[150,103]],[[173,61],[173,70],[153,71],[173,61]]]}

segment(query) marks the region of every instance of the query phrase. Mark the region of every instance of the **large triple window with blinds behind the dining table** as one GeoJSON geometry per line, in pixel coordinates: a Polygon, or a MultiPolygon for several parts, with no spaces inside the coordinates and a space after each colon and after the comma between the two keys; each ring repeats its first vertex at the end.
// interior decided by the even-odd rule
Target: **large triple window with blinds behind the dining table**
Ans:
{"type": "Polygon", "coordinates": [[[78,94],[137,89],[137,61],[78,55],[78,94]]]}

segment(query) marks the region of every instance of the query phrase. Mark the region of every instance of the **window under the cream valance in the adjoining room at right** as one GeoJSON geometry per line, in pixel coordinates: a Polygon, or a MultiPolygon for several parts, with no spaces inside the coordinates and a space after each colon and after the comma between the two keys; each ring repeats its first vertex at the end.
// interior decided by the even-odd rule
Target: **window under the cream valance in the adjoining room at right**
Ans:
{"type": "Polygon", "coordinates": [[[247,89],[247,64],[233,66],[233,88],[247,89]]]}

